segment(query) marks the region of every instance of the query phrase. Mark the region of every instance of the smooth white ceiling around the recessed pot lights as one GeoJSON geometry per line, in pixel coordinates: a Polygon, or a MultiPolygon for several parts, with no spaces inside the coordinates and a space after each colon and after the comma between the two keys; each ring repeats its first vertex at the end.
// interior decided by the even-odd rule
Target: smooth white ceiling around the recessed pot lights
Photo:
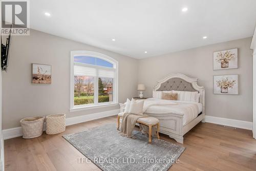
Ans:
{"type": "Polygon", "coordinates": [[[32,29],[138,59],[249,37],[255,22],[255,0],[30,1],[32,29]]]}

